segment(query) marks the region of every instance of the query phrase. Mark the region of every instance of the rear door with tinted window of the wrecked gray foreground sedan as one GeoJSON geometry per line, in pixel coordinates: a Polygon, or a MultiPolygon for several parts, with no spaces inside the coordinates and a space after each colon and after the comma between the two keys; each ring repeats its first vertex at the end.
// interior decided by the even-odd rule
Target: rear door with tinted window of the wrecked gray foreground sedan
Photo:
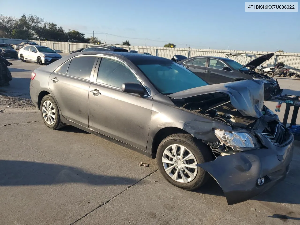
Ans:
{"type": "Polygon", "coordinates": [[[97,55],[78,55],[49,77],[49,88],[64,118],[88,127],[88,93],[97,55]]]}

